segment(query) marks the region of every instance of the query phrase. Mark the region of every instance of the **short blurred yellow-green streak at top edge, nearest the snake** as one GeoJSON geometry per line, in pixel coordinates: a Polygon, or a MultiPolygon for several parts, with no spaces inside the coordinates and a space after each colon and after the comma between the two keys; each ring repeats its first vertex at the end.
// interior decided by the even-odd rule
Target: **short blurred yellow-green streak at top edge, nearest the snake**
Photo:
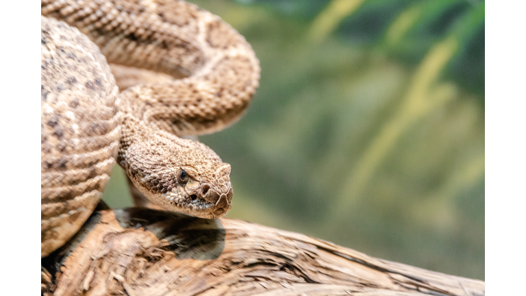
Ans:
{"type": "Polygon", "coordinates": [[[310,40],[322,42],[338,28],[343,18],[353,14],[364,2],[365,0],[332,0],[314,19],[309,31],[310,40]]]}

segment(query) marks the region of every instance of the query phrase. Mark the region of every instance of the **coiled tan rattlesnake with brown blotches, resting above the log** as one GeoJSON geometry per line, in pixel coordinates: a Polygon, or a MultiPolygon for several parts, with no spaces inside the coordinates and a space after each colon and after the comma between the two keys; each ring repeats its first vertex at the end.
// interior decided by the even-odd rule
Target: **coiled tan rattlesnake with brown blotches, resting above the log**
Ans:
{"type": "Polygon", "coordinates": [[[116,162],[153,204],[225,214],[229,164],[179,137],[221,130],[248,106],[260,67],[245,38],[184,1],[42,0],[41,8],[41,256],[79,230],[116,162]],[[146,70],[112,66],[112,75],[107,61],[146,70]]]}

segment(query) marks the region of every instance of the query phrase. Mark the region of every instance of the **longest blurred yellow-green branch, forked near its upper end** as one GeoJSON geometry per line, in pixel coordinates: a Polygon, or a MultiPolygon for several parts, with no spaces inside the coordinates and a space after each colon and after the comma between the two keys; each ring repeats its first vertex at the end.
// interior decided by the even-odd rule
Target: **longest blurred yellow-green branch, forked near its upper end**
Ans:
{"type": "Polygon", "coordinates": [[[453,58],[458,46],[455,36],[449,36],[431,48],[421,62],[407,95],[401,100],[399,110],[381,127],[380,132],[366,147],[364,154],[351,171],[348,181],[345,182],[338,197],[340,200],[335,204],[338,206],[334,208],[338,217],[342,217],[353,201],[362,195],[371,176],[401,135],[418,119],[453,99],[456,93],[453,84],[443,83],[438,86],[435,84],[438,75],[453,58]]]}

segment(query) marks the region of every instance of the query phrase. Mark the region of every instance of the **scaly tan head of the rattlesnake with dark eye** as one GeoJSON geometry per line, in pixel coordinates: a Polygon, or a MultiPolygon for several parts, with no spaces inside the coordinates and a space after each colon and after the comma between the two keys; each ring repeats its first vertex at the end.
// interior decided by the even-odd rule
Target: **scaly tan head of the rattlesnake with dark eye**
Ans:
{"type": "Polygon", "coordinates": [[[164,132],[121,140],[118,162],[134,186],[165,210],[216,219],[231,208],[230,164],[203,143],[164,132]]]}

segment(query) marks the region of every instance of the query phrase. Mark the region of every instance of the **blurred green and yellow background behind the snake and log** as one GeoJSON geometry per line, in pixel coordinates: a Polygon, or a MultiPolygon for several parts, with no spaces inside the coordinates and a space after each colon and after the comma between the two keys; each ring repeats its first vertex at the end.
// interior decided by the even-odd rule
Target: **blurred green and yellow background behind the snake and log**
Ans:
{"type": "MultiPolygon", "coordinates": [[[[244,219],[484,280],[484,1],[190,1],[243,34],[260,88],[202,136],[244,219]]],[[[116,167],[103,199],[131,206],[116,167]]]]}

